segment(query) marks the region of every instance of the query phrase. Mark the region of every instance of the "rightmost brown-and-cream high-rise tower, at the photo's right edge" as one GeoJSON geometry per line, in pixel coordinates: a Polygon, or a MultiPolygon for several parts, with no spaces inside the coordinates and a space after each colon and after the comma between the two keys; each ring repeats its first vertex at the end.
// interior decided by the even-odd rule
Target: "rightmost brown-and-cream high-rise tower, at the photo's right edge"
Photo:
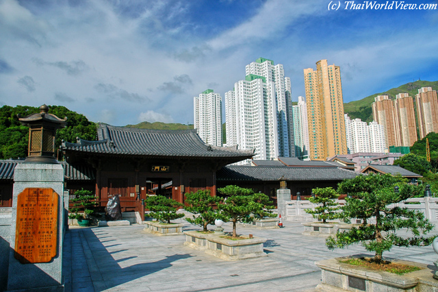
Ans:
{"type": "Polygon", "coordinates": [[[417,104],[418,127],[420,128],[420,139],[430,132],[438,133],[438,99],[437,90],[431,87],[423,87],[415,95],[417,104]]]}

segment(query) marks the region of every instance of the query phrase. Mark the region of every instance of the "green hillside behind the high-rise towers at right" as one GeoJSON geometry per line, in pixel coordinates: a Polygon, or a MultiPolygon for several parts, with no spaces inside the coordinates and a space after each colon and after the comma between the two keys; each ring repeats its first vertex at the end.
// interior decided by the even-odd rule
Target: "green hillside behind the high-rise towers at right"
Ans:
{"type": "Polygon", "coordinates": [[[418,80],[415,82],[409,82],[402,86],[398,86],[397,88],[391,88],[383,93],[375,93],[374,95],[370,95],[369,97],[357,101],[350,101],[347,104],[344,104],[344,112],[348,114],[348,117],[351,119],[359,118],[362,121],[369,123],[372,121],[371,104],[374,102],[374,97],[377,95],[388,95],[395,99],[398,93],[409,93],[411,97],[415,97],[418,93],[418,89],[422,87],[432,87],[433,90],[438,90],[438,81],[430,82],[418,80]]]}

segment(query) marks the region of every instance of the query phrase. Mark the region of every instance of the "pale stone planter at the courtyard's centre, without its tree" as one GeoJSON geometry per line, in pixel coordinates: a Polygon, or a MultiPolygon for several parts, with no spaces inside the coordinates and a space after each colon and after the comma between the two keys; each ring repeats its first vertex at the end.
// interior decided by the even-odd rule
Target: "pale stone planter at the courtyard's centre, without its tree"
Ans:
{"type": "Polygon", "coordinates": [[[233,241],[220,236],[207,237],[206,254],[211,254],[224,260],[243,260],[245,258],[259,258],[267,256],[263,252],[263,243],[266,239],[254,237],[253,239],[242,239],[233,241]]]}

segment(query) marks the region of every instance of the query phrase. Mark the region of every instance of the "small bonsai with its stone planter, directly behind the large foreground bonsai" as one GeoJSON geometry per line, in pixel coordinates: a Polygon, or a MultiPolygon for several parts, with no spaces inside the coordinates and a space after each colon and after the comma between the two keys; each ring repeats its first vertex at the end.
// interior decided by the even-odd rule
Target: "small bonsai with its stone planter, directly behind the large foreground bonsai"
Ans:
{"type": "Polygon", "coordinates": [[[309,197],[309,202],[318,204],[314,209],[305,209],[313,218],[322,220],[322,222],[302,223],[305,230],[302,234],[329,236],[337,231],[337,224],[327,223],[327,220],[335,220],[341,217],[339,212],[339,204],[335,199],[339,197],[339,193],[332,187],[328,188],[313,188],[312,193],[315,197],[309,197]]]}

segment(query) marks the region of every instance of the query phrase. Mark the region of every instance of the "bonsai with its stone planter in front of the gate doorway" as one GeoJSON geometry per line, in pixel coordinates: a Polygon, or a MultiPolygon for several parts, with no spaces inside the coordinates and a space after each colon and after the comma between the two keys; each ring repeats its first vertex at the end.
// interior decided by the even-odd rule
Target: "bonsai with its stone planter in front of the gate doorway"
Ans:
{"type": "Polygon", "coordinates": [[[145,201],[149,214],[146,216],[155,219],[155,222],[146,222],[144,230],[157,233],[158,235],[175,235],[182,233],[183,224],[170,222],[171,220],[184,217],[183,213],[177,213],[183,204],[168,199],[162,195],[148,196],[145,201]]]}

